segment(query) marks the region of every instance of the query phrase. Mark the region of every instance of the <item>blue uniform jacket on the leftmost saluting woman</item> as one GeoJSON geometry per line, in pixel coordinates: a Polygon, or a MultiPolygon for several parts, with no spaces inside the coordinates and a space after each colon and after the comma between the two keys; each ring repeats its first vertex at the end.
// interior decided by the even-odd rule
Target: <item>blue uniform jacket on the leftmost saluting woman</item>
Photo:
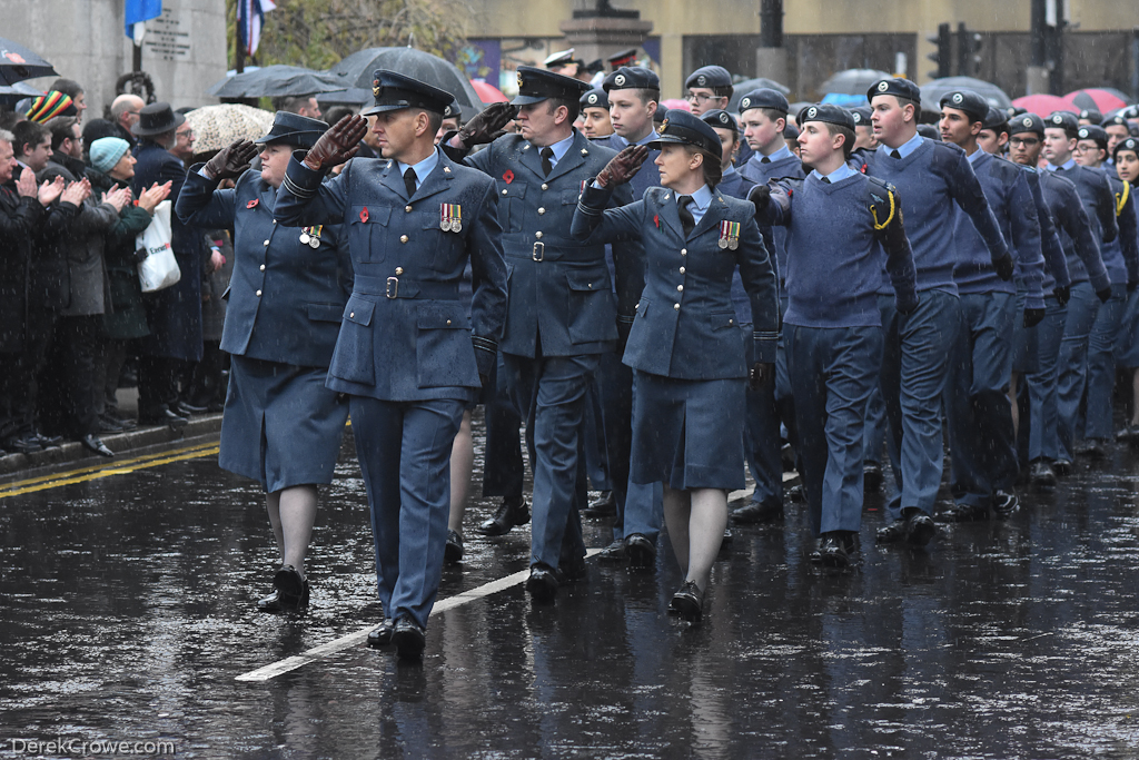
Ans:
{"type": "Polygon", "coordinates": [[[221,349],[251,359],[328,367],[352,293],[347,236],[320,230],[320,246],[301,243],[301,229],[273,219],[277,190],[247,171],[231,190],[190,173],[175,211],[187,224],[233,229],[233,273],[221,349]]]}

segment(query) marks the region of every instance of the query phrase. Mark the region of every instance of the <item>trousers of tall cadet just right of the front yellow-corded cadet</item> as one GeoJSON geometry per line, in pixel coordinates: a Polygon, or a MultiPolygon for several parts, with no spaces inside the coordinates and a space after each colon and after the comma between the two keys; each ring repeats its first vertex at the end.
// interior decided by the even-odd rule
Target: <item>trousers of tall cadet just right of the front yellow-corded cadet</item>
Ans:
{"type": "Polygon", "coordinates": [[[884,349],[882,395],[890,424],[890,459],[898,492],[886,507],[891,520],[917,507],[933,514],[941,487],[943,447],[941,397],[945,390],[949,354],[960,324],[960,301],[956,293],[925,291],[918,307],[900,314],[894,296],[879,296],[884,349]],[[888,299],[883,304],[882,299],[888,299]]]}

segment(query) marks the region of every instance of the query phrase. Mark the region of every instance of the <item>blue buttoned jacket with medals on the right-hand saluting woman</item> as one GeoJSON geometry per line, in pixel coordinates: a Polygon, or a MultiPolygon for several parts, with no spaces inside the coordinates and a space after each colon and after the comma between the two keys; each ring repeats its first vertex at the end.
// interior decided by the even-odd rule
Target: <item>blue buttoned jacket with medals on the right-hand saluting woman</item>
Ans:
{"type": "Polygon", "coordinates": [[[580,239],[640,239],[648,253],[647,283],[624,362],[679,379],[746,377],[745,336],[731,304],[737,265],[752,302],[755,360],[775,362],[779,304],[755,207],[713,191],[712,205],[686,236],[672,190],[650,188],[642,201],[606,211],[609,195],[608,189],[588,188],[571,231],[580,239]],[[719,246],[724,221],[740,226],[736,251],[719,246]]]}

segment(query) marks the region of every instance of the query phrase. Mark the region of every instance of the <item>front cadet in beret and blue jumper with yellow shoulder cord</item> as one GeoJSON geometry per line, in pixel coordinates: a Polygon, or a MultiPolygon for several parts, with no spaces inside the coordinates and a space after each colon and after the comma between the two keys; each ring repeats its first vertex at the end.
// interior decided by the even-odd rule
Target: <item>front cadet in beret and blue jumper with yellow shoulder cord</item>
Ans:
{"type": "Polygon", "coordinates": [[[803,164],[813,171],[757,187],[752,199],[756,214],[788,229],[784,338],[804,491],[821,539],[812,559],[842,569],[862,523],[863,419],[882,366],[883,264],[900,313],[917,309],[918,297],[901,199],[846,163],[850,112],[818,105],[801,119],[803,164]]]}

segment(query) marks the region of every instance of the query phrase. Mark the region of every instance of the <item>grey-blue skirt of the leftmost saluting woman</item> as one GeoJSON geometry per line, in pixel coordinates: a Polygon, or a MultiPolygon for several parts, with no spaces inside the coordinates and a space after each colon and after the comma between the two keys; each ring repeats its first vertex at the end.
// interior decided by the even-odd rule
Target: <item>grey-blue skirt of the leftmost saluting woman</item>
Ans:
{"type": "Polygon", "coordinates": [[[328,370],[232,357],[218,464],[267,493],[333,482],[349,404],[328,370]]]}

